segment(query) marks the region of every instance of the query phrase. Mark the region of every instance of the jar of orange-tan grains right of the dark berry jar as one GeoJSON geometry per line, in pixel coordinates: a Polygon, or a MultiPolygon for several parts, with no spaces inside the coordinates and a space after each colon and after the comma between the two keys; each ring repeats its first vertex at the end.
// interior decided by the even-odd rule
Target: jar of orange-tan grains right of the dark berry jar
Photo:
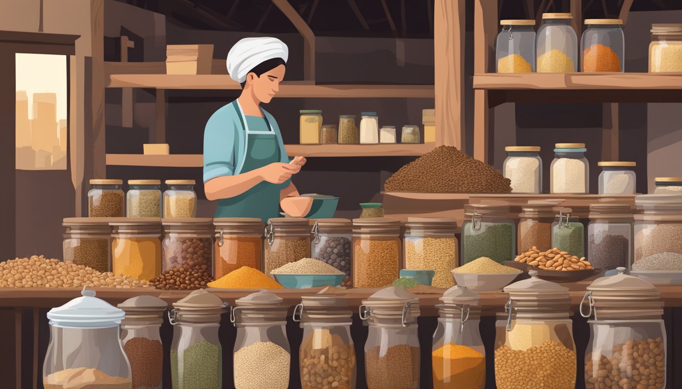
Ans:
{"type": "Polygon", "coordinates": [[[384,287],[400,277],[400,220],[353,219],[353,283],[384,287]]]}

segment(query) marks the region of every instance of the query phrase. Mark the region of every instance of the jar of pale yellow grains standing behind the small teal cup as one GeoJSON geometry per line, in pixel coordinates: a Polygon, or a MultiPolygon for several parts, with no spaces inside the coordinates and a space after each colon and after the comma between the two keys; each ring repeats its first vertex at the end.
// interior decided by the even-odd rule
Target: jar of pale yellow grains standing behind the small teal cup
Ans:
{"type": "Polygon", "coordinates": [[[403,267],[435,270],[431,281],[435,287],[454,285],[450,270],[458,264],[457,219],[409,217],[405,227],[403,267]]]}

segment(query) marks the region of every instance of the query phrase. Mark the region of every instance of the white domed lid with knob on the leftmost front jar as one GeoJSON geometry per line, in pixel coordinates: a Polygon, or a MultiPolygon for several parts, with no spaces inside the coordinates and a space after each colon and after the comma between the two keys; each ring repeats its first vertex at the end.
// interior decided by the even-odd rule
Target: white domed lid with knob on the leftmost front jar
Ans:
{"type": "Polygon", "coordinates": [[[95,291],[83,288],[81,297],[61,307],[50,309],[50,326],[61,328],[111,328],[121,324],[125,312],[95,297],[95,291]]]}

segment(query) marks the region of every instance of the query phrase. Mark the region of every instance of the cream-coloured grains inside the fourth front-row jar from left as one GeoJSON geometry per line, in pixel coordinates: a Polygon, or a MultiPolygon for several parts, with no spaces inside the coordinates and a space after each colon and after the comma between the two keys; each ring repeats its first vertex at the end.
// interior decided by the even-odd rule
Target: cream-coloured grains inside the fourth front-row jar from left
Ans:
{"type": "Polygon", "coordinates": [[[256,342],[235,352],[236,389],[286,389],[291,355],[272,342],[256,342]]]}

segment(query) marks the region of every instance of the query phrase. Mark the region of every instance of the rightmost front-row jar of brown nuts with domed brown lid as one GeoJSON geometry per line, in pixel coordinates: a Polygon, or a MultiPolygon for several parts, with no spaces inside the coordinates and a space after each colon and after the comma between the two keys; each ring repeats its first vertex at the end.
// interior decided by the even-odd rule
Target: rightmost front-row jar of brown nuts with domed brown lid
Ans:
{"type": "Polygon", "coordinates": [[[665,388],[667,365],[663,302],[651,283],[625,274],[595,280],[580,303],[590,340],[585,352],[585,388],[665,388]]]}

